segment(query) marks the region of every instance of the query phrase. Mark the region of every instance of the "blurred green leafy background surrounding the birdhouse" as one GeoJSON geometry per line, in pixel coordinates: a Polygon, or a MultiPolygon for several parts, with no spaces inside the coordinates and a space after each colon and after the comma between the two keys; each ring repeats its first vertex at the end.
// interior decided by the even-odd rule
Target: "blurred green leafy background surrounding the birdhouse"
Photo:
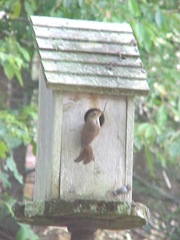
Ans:
{"type": "MultiPolygon", "coordinates": [[[[180,239],[179,0],[0,1],[0,239],[45,239],[51,231],[19,224],[12,212],[33,191],[38,59],[30,15],[131,25],[151,89],[135,102],[133,198],[149,207],[151,221],[142,229],[99,231],[97,239],[180,239]]],[[[55,239],[68,239],[60,235],[55,239]]]]}

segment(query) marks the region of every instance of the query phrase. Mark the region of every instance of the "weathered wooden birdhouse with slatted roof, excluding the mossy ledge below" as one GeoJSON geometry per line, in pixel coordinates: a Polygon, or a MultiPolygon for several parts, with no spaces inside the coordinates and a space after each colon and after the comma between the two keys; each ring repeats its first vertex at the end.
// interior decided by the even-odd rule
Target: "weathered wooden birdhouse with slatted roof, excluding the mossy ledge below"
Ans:
{"type": "Polygon", "coordinates": [[[34,200],[131,202],[134,97],[149,90],[131,27],[31,21],[41,62],[34,200]]]}

